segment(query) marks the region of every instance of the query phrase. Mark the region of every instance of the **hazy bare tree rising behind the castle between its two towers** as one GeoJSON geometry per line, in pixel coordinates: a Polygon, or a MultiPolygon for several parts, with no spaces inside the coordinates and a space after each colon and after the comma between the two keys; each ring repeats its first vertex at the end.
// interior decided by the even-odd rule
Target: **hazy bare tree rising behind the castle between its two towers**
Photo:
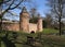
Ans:
{"type": "Polygon", "coordinates": [[[38,15],[40,15],[38,12],[37,12],[37,9],[36,8],[32,8],[30,10],[30,23],[37,23],[38,21],[38,15]]]}

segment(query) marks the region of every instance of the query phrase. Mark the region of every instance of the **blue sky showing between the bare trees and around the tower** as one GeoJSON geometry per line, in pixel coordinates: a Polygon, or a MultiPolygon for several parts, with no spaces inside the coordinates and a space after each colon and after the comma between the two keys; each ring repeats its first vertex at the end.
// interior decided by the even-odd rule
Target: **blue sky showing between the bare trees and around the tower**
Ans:
{"type": "MultiPolygon", "coordinates": [[[[30,9],[30,7],[35,7],[37,11],[40,13],[41,16],[46,16],[46,13],[49,13],[49,7],[46,4],[47,0],[34,0],[32,5],[28,5],[29,3],[26,3],[26,8],[30,9]]],[[[22,10],[14,9],[12,10],[15,14],[20,15],[22,10]]],[[[14,17],[16,20],[20,20],[20,17],[14,17]]]]}

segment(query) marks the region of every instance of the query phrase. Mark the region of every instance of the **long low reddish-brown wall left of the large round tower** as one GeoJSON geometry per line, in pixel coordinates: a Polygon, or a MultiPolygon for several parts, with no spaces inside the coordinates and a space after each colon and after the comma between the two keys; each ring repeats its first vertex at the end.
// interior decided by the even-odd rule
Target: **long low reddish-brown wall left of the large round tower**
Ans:
{"type": "Polygon", "coordinates": [[[3,23],[2,30],[5,31],[20,31],[20,23],[3,23]]]}

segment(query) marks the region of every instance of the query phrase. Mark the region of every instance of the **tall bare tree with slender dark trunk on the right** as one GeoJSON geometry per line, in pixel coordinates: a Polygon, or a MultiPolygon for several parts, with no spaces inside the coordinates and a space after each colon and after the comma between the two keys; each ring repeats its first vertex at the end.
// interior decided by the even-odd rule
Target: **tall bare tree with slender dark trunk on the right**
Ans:
{"type": "Polygon", "coordinates": [[[51,7],[51,12],[56,15],[60,23],[60,35],[62,35],[61,20],[64,16],[65,0],[48,0],[48,4],[51,7]]]}

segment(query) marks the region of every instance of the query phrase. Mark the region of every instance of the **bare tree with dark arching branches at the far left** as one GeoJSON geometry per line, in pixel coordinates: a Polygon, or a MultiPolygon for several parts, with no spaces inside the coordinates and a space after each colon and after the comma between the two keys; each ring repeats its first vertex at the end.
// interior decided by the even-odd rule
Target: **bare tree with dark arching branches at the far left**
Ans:
{"type": "MultiPolygon", "coordinates": [[[[10,10],[21,8],[20,4],[28,0],[0,0],[0,30],[2,30],[2,17],[10,10]]],[[[12,14],[12,13],[11,13],[12,14]]]]}

